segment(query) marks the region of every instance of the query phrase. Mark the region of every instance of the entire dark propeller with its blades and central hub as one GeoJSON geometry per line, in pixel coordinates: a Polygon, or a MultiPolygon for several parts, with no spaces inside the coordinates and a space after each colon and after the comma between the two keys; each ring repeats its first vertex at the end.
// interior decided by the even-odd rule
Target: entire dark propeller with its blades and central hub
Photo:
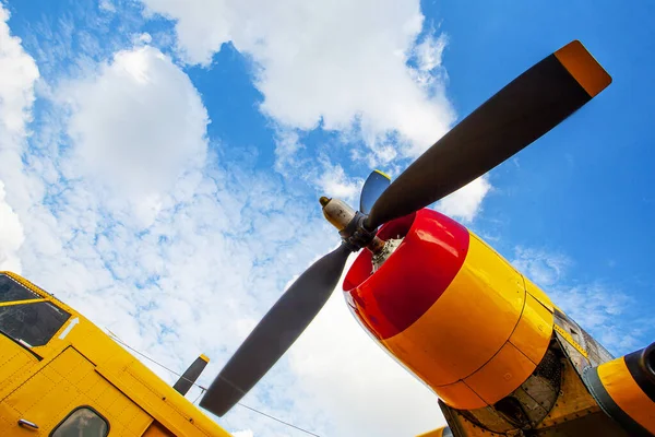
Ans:
{"type": "MultiPolygon", "coordinates": [[[[282,357],[319,314],[352,251],[384,223],[443,199],[491,170],[584,106],[611,78],[577,40],[519,75],[418,157],[389,187],[371,174],[343,243],[302,273],[264,316],[200,405],[223,416],[282,357]],[[368,215],[367,215],[368,214],[368,215]]],[[[384,176],[384,175],[382,175],[384,176]]]]}

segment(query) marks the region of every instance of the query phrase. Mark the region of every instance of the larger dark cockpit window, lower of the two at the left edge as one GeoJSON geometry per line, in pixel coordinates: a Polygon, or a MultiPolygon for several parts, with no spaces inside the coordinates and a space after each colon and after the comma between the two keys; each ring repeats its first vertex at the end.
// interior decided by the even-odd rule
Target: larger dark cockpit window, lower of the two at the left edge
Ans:
{"type": "Polygon", "coordinates": [[[49,302],[0,307],[0,332],[26,346],[43,346],[71,317],[49,302]]]}

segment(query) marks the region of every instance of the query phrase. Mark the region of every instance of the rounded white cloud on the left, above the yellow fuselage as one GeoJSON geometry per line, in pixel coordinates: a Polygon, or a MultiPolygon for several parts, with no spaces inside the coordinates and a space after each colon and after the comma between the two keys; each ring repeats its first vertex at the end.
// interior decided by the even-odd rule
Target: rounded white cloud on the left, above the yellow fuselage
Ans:
{"type": "Polygon", "coordinates": [[[148,192],[204,164],[206,110],[189,78],[155,48],[119,51],[61,95],[73,106],[69,177],[99,175],[148,192]]]}

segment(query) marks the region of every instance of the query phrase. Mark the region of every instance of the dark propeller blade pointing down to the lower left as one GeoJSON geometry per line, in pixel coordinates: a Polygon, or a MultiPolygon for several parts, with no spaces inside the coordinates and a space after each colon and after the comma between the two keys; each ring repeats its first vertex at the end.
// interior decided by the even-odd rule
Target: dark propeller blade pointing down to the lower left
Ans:
{"type": "Polygon", "coordinates": [[[349,253],[340,246],[291,284],[221,370],[200,406],[223,416],[273,367],[325,305],[349,253]]]}

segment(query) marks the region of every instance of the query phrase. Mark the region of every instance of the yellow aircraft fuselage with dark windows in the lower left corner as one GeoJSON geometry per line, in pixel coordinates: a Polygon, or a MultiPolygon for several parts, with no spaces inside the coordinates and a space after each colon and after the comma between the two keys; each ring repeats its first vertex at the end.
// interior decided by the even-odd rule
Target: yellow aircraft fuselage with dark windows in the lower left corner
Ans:
{"type": "Polygon", "coordinates": [[[229,436],[84,316],[10,272],[0,272],[0,436],[70,436],[83,421],[97,423],[94,437],[105,426],[110,436],[229,436]]]}

